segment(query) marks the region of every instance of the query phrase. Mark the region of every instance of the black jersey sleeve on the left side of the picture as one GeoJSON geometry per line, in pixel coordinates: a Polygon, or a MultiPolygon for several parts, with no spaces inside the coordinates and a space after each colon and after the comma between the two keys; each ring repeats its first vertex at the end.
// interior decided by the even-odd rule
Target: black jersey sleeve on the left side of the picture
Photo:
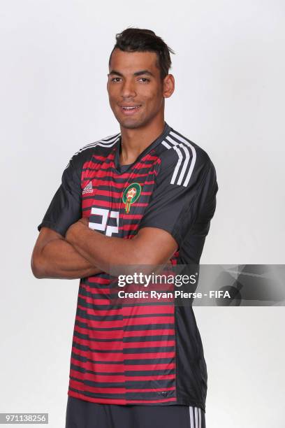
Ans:
{"type": "Polygon", "coordinates": [[[81,165],[78,161],[78,157],[73,156],[66,166],[61,185],[38,225],[38,231],[45,226],[64,236],[68,227],[82,217],[81,165]]]}

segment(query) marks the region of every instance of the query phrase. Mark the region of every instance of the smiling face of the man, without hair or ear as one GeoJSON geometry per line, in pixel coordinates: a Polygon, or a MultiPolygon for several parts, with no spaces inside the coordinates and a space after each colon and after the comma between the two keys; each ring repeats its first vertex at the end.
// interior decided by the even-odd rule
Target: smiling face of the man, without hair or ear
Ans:
{"type": "Polygon", "coordinates": [[[112,52],[107,90],[121,127],[144,127],[161,117],[163,87],[155,52],[112,52]]]}

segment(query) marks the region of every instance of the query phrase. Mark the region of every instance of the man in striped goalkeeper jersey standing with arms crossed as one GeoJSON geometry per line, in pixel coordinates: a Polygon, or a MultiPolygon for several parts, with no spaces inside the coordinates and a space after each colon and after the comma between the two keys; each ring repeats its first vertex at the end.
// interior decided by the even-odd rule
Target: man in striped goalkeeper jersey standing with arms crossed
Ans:
{"type": "Polygon", "coordinates": [[[207,371],[191,307],[111,300],[112,266],[198,264],[214,166],[164,122],[175,81],[153,31],[117,34],[108,73],[120,134],[73,155],[38,229],[37,278],[82,278],[66,428],[205,427],[207,371]]]}

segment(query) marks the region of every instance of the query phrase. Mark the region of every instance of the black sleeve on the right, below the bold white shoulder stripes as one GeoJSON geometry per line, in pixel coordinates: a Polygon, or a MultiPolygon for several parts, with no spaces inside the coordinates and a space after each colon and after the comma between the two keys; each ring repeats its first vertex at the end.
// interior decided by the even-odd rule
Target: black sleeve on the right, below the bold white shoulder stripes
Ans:
{"type": "Polygon", "coordinates": [[[210,221],[218,190],[216,172],[210,158],[197,159],[187,186],[171,184],[174,164],[161,164],[152,199],[140,223],[168,231],[181,247],[196,220],[210,221]]]}

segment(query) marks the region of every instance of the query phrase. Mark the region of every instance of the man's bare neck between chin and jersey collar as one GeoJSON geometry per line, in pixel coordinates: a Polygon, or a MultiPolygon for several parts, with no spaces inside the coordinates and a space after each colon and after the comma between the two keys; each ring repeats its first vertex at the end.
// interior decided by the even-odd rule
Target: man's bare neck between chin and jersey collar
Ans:
{"type": "Polygon", "coordinates": [[[156,138],[158,138],[164,129],[164,118],[159,122],[152,122],[145,127],[127,129],[121,127],[122,152],[120,163],[122,165],[132,164],[156,138]]]}

